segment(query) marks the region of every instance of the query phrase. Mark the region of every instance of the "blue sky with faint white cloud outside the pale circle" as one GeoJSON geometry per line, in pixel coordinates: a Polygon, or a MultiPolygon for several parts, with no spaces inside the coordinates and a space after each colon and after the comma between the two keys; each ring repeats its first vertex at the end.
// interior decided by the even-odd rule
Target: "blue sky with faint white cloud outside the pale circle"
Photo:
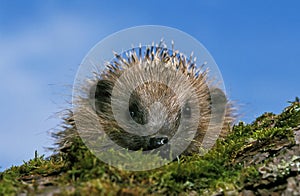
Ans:
{"type": "Polygon", "coordinates": [[[86,53],[137,25],[165,25],[198,39],[214,57],[227,93],[251,122],[300,96],[300,1],[0,0],[0,170],[53,140],[57,112],[70,107],[86,53]]]}

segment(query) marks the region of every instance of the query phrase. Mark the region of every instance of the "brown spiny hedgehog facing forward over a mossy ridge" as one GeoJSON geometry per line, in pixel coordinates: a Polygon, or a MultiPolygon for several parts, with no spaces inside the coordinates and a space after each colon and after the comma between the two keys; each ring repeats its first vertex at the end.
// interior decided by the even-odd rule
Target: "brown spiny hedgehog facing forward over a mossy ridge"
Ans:
{"type": "Polygon", "coordinates": [[[160,42],[113,56],[102,73],[96,71],[77,89],[74,110],[64,118],[66,130],[55,134],[58,151],[67,152],[79,126],[80,136],[90,143],[101,130],[124,149],[184,155],[213,143],[204,141],[208,131],[214,131],[213,137],[230,131],[232,104],[208,79],[209,70],[197,67],[193,54],[187,57],[174,50],[174,43],[169,49],[160,42]],[[183,151],[170,149],[171,142],[176,148],[185,146],[183,151]]]}

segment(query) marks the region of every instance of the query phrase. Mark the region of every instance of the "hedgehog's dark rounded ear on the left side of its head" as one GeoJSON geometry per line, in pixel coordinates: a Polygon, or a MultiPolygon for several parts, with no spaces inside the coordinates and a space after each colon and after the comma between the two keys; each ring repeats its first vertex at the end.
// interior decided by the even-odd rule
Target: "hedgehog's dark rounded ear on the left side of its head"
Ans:
{"type": "Polygon", "coordinates": [[[113,82],[109,80],[99,80],[90,90],[90,99],[95,104],[95,110],[99,112],[108,112],[110,108],[111,93],[113,82]]]}

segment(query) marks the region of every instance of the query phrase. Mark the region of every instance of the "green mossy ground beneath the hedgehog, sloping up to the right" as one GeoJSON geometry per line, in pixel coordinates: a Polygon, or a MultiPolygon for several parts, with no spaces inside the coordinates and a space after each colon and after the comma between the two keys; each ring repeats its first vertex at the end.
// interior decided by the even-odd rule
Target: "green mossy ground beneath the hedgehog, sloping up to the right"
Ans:
{"type": "Polygon", "coordinates": [[[101,162],[75,135],[65,153],[45,158],[36,152],[32,160],[0,173],[0,195],[49,191],[60,195],[211,195],[283,190],[286,179],[300,171],[294,139],[299,125],[300,103],[296,100],[279,115],[265,113],[251,124],[236,124],[204,156],[182,156],[143,172],[120,170],[101,162]],[[289,157],[290,152],[295,153],[289,157]],[[274,165],[279,165],[277,173],[268,170],[274,165]]]}

